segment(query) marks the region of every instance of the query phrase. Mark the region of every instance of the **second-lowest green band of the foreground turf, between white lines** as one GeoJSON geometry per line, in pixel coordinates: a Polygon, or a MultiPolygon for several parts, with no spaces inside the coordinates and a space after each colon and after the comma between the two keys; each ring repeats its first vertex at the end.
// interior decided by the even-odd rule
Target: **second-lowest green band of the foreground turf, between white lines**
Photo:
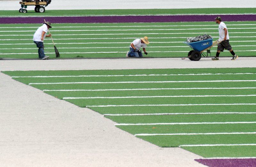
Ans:
{"type": "MultiPolygon", "coordinates": [[[[137,137],[160,147],[179,147],[180,145],[190,144],[194,145],[255,143],[256,134],[156,135],[137,137]]],[[[252,149],[253,148],[250,148],[250,150],[252,149]]]]}

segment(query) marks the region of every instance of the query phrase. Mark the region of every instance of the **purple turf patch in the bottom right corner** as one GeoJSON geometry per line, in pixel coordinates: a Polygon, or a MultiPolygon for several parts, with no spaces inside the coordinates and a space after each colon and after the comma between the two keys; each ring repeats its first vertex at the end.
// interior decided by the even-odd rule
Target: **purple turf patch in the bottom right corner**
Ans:
{"type": "Polygon", "coordinates": [[[237,158],[237,159],[195,159],[195,161],[209,167],[256,167],[256,158],[237,158]]]}

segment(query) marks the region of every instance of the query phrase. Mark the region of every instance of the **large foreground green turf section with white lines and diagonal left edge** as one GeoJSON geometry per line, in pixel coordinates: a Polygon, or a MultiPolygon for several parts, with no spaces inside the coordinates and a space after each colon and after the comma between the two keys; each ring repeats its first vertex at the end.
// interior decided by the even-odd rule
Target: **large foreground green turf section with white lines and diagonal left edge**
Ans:
{"type": "Polygon", "coordinates": [[[116,127],[160,147],[181,147],[203,157],[255,156],[255,146],[240,144],[255,144],[256,68],[3,73],[77,106],[88,106],[115,121],[116,127]],[[159,81],[167,83],[155,83],[159,81]],[[195,95],[202,97],[187,97],[195,95]],[[217,145],[200,146],[205,144],[217,145]],[[219,146],[223,144],[237,146],[219,146]]]}

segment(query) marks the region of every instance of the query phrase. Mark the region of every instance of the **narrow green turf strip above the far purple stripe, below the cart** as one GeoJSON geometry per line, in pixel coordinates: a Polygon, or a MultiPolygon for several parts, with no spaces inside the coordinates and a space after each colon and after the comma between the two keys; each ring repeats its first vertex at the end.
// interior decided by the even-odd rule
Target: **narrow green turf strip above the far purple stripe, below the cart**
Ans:
{"type": "MultiPolygon", "coordinates": [[[[51,5],[51,4],[49,4],[51,5]]],[[[19,6],[17,2],[17,6],[19,6]]],[[[111,9],[111,10],[47,10],[44,13],[36,13],[34,6],[28,6],[28,13],[19,13],[15,11],[0,11],[0,16],[72,16],[72,15],[157,15],[157,14],[237,14],[237,13],[255,13],[255,8],[207,8],[205,9],[111,9]]]]}

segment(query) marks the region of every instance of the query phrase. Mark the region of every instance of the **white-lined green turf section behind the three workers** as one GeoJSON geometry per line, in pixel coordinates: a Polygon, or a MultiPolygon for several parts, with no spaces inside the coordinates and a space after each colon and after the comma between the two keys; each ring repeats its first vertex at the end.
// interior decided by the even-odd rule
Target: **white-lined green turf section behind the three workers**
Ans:
{"type": "MultiPolygon", "coordinates": [[[[256,40],[256,21],[225,23],[228,26],[230,44],[235,53],[239,57],[255,56],[255,49],[252,45],[256,40]]],[[[40,25],[0,24],[0,31],[3,31],[3,36],[0,35],[0,57],[36,59],[38,57],[37,48],[32,38],[40,25]],[[22,27],[26,28],[26,31],[20,32],[19,28],[22,27]]],[[[186,37],[210,34],[213,36],[213,40],[219,38],[218,25],[214,21],[137,23],[137,26],[142,26],[143,29],[130,27],[130,23],[55,24],[54,26],[51,33],[61,58],[125,58],[130,43],[141,36],[148,36],[150,41],[150,44],[147,45],[148,55],[144,55],[145,57],[187,57],[191,48],[184,44],[187,40],[186,37]]],[[[44,40],[45,54],[50,58],[55,58],[52,45],[51,39],[44,40]]],[[[215,56],[216,50],[216,46],[211,48],[212,57],[215,56]]],[[[232,55],[228,51],[224,51],[220,57],[232,57],[232,55]]]]}

